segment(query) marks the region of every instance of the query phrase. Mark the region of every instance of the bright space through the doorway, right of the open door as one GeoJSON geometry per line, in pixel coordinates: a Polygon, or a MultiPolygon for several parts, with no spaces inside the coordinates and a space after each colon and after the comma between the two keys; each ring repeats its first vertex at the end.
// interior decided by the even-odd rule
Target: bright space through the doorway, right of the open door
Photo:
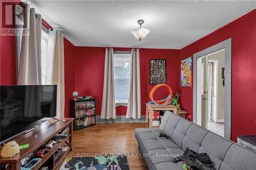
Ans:
{"type": "Polygon", "coordinates": [[[208,55],[207,129],[224,137],[225,49],[208,55]]]}

